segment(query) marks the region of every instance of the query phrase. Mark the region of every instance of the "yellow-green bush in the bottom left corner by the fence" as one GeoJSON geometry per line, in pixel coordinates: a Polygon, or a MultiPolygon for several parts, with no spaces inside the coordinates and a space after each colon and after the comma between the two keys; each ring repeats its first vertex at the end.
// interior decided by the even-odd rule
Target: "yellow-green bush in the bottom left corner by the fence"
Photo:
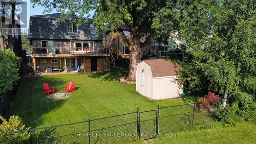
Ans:
{"type": "Polygon", "coordinates": [[[0,115],[0,120],[3,122],[0,125],[0,143],[22,143],[29,139],[30,133],[28,129],[25,130],[25,125],[19,116],[10,116],[8,122],[0,115]]]}

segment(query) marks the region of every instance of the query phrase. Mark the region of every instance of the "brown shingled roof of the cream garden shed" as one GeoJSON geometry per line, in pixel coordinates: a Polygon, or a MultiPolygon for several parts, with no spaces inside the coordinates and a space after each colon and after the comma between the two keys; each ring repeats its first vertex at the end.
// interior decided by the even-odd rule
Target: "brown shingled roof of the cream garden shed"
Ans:
{"type": "Polygon", "coordinates": [[[166,61],[163,59],[151,59],[151,60],[143,60],[143,61],[148,65],[150,65],[153,78],[176,76],[177,71],[180,68],[179,64],[166,61]]]}

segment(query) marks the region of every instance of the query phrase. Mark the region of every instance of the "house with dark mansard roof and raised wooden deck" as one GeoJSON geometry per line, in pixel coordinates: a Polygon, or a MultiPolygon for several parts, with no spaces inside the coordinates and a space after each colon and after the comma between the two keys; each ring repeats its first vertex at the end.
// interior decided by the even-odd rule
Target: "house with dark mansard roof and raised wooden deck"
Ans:
{"type": "MultiPolygon", "coordinates": [[[[82,19],[82,21],[85,19],[82,19]]],[[[76,26],[61,21],[61,13],[30,16],[29,39],[33,46],[33,69],[55,67],[59,71],[103,71],[113,63],[109,49],[102,47],[92,19],[76,26]]],[[[49,71],[48,71],[49,72],[49,71]]]]}

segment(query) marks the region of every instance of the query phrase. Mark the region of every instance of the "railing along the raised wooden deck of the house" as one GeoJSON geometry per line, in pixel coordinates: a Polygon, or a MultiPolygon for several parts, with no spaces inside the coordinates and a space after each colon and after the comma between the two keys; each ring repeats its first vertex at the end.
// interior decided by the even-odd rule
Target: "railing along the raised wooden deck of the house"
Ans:
{"type": "Polygon", "coordinates": [[[33,47],[33,55],[63,55],[63,54],[109,54],[106,48],[89,47],[33,47]]]}

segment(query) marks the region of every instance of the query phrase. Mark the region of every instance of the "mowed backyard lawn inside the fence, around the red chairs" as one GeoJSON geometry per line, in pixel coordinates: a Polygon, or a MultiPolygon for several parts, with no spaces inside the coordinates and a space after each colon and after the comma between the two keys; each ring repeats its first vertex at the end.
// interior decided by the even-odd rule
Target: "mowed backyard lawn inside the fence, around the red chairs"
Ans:
{"type": "Polygon", "coordinates": [[[11,114],[22,117],[27,127],[47,127],[86,121],[116,114],[157,109],[157,106],[183,104],[182,100],[151,101],[135,91],[134,84],[116,81],[120,70],[109,73],[49,75],[22,77],[11,114]],[[75,82],[77,90],[65,92],[63,87],[75,82]],[[42,84],[54,86],[55,92],[70,94],[66,99],[46,98],[42,84]]]}

